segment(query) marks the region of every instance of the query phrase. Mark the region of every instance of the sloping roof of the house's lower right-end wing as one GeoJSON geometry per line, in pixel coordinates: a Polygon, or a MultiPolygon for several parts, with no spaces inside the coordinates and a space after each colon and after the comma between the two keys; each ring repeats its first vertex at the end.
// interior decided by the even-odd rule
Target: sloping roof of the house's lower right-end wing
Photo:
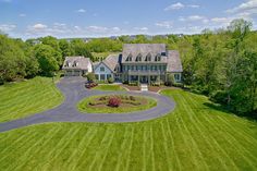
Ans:
{"type": "Polygon", "coordinates": [[[168,72],[183,72],[180,53],[178,50],[169,50],[167,61],[168,72]]]}

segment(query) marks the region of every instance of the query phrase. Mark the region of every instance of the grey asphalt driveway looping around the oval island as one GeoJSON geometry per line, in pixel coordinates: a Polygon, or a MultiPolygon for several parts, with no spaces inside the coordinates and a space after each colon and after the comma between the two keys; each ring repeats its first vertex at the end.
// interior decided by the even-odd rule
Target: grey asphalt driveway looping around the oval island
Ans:
{"type": "Polygon", "coordinates": [[[64,94],[65,100],[54,109],[34,114],[24,119],[0,123],[0,132],[23,127],[26,125],[46,122],[138,122],[151,120],[168,114],[174,109],[174,101],[166,96],[155,93],[136,91],[100,91],[88,90],[84,87],[82,77],[64,77],[58,84],[58,88],[64,94]],[[149,110],[136,111],[131,113],[81,113],[76,109],[76,103],[89,96],[107,94],[128,94],[152,97],[157,99],[157,106],[149,110]]]}

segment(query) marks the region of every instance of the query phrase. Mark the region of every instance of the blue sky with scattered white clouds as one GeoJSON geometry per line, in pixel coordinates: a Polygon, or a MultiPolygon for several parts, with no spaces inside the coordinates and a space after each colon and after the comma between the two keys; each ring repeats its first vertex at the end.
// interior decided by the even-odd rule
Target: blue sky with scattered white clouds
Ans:
{"type": "Polygon", "coordinates": [[[11,37],[197,34],[244,19],[257,29],[257,0],[0,0],[11,37]]]}

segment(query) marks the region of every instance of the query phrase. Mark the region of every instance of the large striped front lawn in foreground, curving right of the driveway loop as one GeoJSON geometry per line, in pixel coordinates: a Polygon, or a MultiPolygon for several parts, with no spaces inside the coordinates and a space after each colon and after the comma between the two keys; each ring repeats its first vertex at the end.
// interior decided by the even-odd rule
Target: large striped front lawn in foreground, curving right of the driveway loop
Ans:
{"type": "Polygon", "coordinates": [[[48,123],[0,133],[0,168],[19,170],[257,170],[257,123],[164,90],[176,109],[138,123],[48,123]]]}

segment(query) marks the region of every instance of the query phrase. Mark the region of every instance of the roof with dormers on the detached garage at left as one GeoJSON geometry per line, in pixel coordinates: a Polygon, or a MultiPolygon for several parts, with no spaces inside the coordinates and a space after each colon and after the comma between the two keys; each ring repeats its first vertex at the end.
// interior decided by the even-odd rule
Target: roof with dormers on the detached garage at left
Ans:
{"type": "Polygon", "coordinates": [[[88,70],[88,64],[91,64],[91,61],[89,58],[84,57],[66,57],[62,69],[79,69],[79,70],[88,70]]]}

